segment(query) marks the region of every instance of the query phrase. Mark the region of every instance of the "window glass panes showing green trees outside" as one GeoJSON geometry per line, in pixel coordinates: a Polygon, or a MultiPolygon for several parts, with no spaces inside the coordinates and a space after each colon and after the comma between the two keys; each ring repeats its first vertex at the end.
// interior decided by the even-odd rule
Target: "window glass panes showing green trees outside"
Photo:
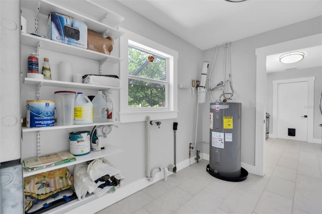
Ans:
{"type": "Polygon", "coordinates": [[[128,106],[167,107],[167,58],[128,48],[128,106]]]}

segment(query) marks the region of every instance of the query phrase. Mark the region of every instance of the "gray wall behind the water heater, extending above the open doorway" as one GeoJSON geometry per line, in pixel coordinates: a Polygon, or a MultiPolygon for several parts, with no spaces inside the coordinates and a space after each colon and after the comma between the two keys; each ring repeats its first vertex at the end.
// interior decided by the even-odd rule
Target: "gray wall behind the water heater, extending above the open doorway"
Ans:
{"type": "MultiPolygon", "coordinates": [[[[273,45],[322,32],[322,17],[316,17],[286,27],[271,30],[231,43],[232,82],[235,93],[234,102],[242,103],[241,110],[241,162],[255,165],[255,119],[256,108],[251,108],[251,102],[256,102],[256,55],[257,48],[273,45]]],[[[215,36],[215,35],[214,35],[215,36]]],[[[221,44],[220,44],[221,45],[221,44]]],[[[218,49],[223,56],[223,47],[218,49]]],[[[204,51],[204,59],[213,61],[214,48],[204,51]]],[[[217,58],[213,70],[212,85],[222,80],[223,61],[217,58]]],[[[291,76],[290,76],[291,77],[291,76]]],[[[219,99],[221,91],[216,91],[214,99],[219,99]]],[[[203,104],[202,131],[203,141],[209,142],[209,100],[203,104]]],[[[209,153],[209,149],[203,152],[209,153]]]]}

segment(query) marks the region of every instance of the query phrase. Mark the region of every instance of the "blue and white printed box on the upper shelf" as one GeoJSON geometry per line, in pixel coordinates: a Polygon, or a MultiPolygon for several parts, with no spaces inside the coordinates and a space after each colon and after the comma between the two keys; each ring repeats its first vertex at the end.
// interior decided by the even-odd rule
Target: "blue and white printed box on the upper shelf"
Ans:
{"type": "Polygon", "coordinates": [[[69,16],[50,13],[47,38],[87,49],[87,25],[69,16]]]}

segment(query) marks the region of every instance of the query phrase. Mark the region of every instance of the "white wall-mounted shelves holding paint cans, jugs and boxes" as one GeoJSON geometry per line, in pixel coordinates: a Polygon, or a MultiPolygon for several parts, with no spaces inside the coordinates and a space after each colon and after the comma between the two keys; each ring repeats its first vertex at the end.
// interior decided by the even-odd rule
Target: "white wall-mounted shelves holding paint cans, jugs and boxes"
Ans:
{"type": "MultiPolygon", "coordinates": [[[[110,36],[114,40],[118,39],[124,33],[119,31],[118,25],[124,20],[123,17],[89,1],[89,0],[77,0],[75,1],[61,1],[61,0],[20,0],[20,6],[22,9],[28,9],[30,11],[35,12],[35,19],[37,19],[38,14],[43,14],[48,16],[51,12],[59,13],[62,15],[67,15],[73,17],[77,20],[83,21],[88,29],[94,30],[97,33],[101,34],[104,37],[110,36]]],[[[28,20],[27,20],[28,22],[28,20]]],[[[35,25],[38,25],[38,21],[29,20],[30,24],[35,22],[35,25]]],[[[37,28],[36,28],[37,29],[37,28]]],[[[46,49],[57,53],[64,53],[67,55],[73,55],[81,58],[88,58],[91,60],[99,61],[100,66],[103,63],[111,63],[117,64],[120,62],[120,58],[114,57],[111,55],[102,54],[99,52],[87,50],[84,48],[79,48],[72,45],[67,45],[63,43],[59,43],[56,41],[52,41],[46,38],[22,33],[21,34],[21,44],[32,46],[36,48],[36,52],[38,53],[39,49],[46,49]]],[[[22,47],[22,51],[23,51],[22,47]]],[[[101,68],[100,68],[101,69],[101,68]]],[[[36,89],[36,96],[40,93],[40,88],[43,87],[56,87],[56,88],[71,88],[71,89],[89,89],[89,90],[119,90],[119,86],[106,86],[106,85],[93,85],[93,84],[83,84],[83,83],[74,83],[74,82],[63,82],[63,81],[55,81],[55,80],[45,80],[45,79],[34,79],[34,78],[24,78],[22,80],[22,84],[33,85],[36,89]]],[[[46,90],[45,90],[46,91],[46,90]]],[[[46,93],[46,92],[44,92],[46,93]]],[[[24,95],[24,92],[22,93],[24,95]]],[[[38,96],[39,98],[39,96],[38,96]]],[[[63,129],[74,129],[74,128],[82,128],[82,127],[94,127],[94,126],[105,126],[105,125],[116,125],[120,122],[106,122],[106,123],[92,123],[85,125],[71,125],[71,126],[51,126],[51,127],[39,127],[39,128],[22,128],[22,135],[25,135],[23,139],[23,143],[26,144],[37,144],[40,146],[40,134],[44,133],[44,136],[47,136],[46,133],[53,132],[55,130],[63,130],[63,129]],[[28,137],[33,136],[35,133],[37,135],[37,142],[28,141],[28,137]]],[[[58,131],[57,131],[58,132],[58,131]]],[[[61,132],[61,131],[59,131],[61,132]]],[[[46,137],[42,137],[42,141],[46,141],[46,137]]],[[[44,145],[46,146],[46,145],[44,145]]],[[[57,149],[57,148],[55,148],[57,149]]],[[[114,154],[118,154],[122,152],[122,149],[119,149],[112,145],[107,145],[106,149],[101,151],[91,151],[87,155],[76,156],[76,160],[68,163],[64,163],[57,166],[52,166],[44,169],[39,169],[35,171],[28,171],[24,169],[23,176],[28,177],[41,172],[46,172],[49,170],[54,170],[62,167],[72,167],[75,164],[83,163],[87,161],[91,161],[97,158],[102,158],[114,154]]],[[[24,153],[25,151],[22,151],[24,153]]],[[[28,152],[25,152],[28,155],[28,152]]],[[[38,153],[37,153],[38,154],[38,153]]],[[[26,156],[25,155],[25,156],[26,156]]],[[[94,194],[89,194],[85,199],[82,200],[72,200],[68,203],[55,207],[46,213],[64,213],[68,211],[72,211],[73,208],[76,208],[80,204],[88,203],[89,206],[95,206],[95,199],[98,198],[94,194]]]]}

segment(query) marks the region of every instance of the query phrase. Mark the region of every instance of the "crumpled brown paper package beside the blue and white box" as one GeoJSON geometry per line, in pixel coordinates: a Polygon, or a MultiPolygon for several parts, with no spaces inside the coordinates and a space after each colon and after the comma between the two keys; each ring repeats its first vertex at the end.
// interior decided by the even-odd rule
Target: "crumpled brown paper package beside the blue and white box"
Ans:
{"type": "Polygon", "coordinates": [[[113,44],[112,37],[104,38],[95,31],[88,29],[87,49],[110,55],[113,50],[113,44]]]}

